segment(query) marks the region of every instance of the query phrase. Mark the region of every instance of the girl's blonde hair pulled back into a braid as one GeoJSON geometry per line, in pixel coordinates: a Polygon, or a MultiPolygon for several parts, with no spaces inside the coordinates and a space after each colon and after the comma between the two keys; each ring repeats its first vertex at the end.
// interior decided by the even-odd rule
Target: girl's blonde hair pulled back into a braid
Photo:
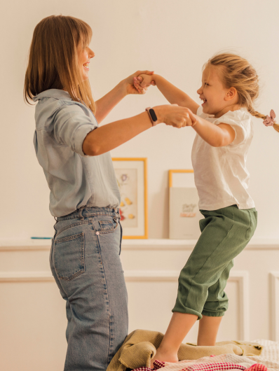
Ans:
{"type": "MultiPolygon", "coordinates": [[[[222,53],[209,59],[206,66],[222,66],[220,76],[225,87],[235,87],[238,92],[238,104],[246,107],[252,116],[266,119],[267,116],[254,110],[253,103],[259,96],[259,76],[251,64],[239,55],[222,53]]],[[[279,125],[273,124],[279,132],[279,125]]]]}

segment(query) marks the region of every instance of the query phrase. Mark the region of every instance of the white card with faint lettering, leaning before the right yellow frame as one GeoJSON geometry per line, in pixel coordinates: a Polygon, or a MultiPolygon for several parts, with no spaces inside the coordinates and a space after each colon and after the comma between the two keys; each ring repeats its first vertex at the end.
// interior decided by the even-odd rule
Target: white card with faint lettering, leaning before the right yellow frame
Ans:
{"type": "Polygon", "coordinates": [[[203,218],[196,188],[170,188],[170,239],[198,239],[203,218]]]}

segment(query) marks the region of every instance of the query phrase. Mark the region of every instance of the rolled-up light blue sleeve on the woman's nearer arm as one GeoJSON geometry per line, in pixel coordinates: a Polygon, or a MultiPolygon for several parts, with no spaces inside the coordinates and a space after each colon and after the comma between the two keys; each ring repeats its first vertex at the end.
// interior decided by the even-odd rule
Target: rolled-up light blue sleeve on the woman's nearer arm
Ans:
{"type": "Polygon", "coordinates": [[[83,153],[83,141],[86,135],[96,129],[93,122],[77,104],[65,105],[55,112],[54,137],[57,143],[69,146],[72,151],[86,157],[83,153]]]}

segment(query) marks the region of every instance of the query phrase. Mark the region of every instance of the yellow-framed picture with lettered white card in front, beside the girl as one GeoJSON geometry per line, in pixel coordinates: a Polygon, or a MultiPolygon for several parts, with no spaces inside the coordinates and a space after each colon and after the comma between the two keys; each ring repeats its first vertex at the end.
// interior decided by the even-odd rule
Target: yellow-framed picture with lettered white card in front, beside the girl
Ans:
{"type": "Polygon", "coordinates": [[[191,173],[191,169],[169,170],[170,239],[198,239],[200,236],[199,221],[203,216],[198,209],[198,191],[193,186],[191,173]],[[174,181],[174,174],[183,176],[174,181]]]}

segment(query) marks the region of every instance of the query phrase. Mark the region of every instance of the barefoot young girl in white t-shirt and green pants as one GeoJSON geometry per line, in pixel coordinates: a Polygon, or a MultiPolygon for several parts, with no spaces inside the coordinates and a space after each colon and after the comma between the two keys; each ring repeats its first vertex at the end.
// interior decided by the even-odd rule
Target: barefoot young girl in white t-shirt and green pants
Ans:
{"type": "MultiPolygon", "coordinates": [[[[247,192],[247,153],[253,137],[252,116],[275,124],[254,110],[258,76],[246,59],[233,54],[212,57],[204,66],[199,106],[165,78],[141,75],[135,87],[157,85],[170,103],[189,109],[196,131],[192,162],[200,212],[201,235],[179,276],[172,318],[159,346],[158,360],[176,362],[182,340],[199,319],[198,345],[215,345],[228,308],[224,293],[233,258],[243,251],[257,225],[254,201],[247,192]]],[[[156,111],[156,109],[155,109],[156,111]]]]}

